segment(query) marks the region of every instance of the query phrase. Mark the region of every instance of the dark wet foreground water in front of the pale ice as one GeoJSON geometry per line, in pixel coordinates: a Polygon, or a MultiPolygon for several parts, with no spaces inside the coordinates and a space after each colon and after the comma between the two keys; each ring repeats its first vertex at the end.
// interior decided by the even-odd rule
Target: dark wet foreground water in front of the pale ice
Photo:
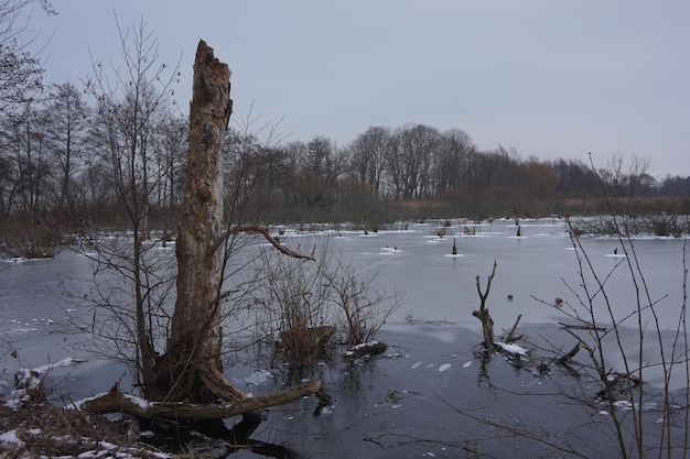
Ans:
{"type": "MultiPolygon", "coordinates": [[[[618,457],[611,416],[596,401],[599,385],[574,367],[539,374],[502,354],[484,358],[479,335],[446,324],[410,324],[381,339],[390,343],[384,356],[317,368],[335,398],[332,412],[314,416],[315,398],[274,407],[255,437],[310,458],[575,457],[554,455],[553,445],[618,457]]],[[[280,389],[284,373],[248,376],[258,383],[248,390],[259,393],[280,389]]],[[[654,391],[648,397],[654,401],[654,391]]],[[[659,417],[651,407],[645,412],[651,445],[660,437],[659,417]]]]}

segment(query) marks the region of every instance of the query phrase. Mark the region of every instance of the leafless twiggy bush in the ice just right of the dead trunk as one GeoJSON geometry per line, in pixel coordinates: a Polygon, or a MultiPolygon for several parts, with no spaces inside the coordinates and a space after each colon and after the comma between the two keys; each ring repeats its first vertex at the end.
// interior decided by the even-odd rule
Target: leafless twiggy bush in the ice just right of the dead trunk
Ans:
{"type": "Polygon", "coordinates": [[[267,282],[255,293],[261,335],[292,362],[323,357],[334,334],[351,346],[371,340],[402,302],[398,292],[378,291],[376,273],[358,273],[327,240],[314,250],[315,263],[266,254],[267,282]]]}

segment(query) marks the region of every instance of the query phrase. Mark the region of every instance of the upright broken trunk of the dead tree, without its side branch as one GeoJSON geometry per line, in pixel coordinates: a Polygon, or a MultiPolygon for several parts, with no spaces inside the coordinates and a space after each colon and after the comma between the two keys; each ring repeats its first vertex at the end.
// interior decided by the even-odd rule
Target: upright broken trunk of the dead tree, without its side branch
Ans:
{"type": "MultiPolygon", "coordinates": [[[[144,395],[150,400],[213,398],[200,376],[220,372],[222,283],[218,238],[223,223],[223,143],[231,113],[228,66],[202,40],[194,62],[190,108],[190,157],[176,242],[177,298],[165,354],[144,395]],[[206,389],[206,390],[204,390],[206,389]]],[[[211,390],[213,393],[214,391],[211,390]]],[[[245,398],[239,391],[233,401],[245,398]]]]}

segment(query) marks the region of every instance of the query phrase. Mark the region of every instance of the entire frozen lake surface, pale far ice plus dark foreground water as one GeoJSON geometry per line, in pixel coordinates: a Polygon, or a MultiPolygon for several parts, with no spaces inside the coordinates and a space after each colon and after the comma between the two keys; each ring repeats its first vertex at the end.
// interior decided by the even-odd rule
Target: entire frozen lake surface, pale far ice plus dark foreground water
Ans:
{"type": "MultiPolygon", "coordinates": [[[[635,362],[640,346],[635,315],[638,294],[633,280],[640,288],[644,281],[651,302],[657,302],[655,310],[660,335],[665,347],[670,349],[683,302],[684,241],[636,239],[634,258],[629,245],[624,250],[619,241],[611,238],[586,238],[582,240],[584,252],[574,250],[562,220],[522,220],[519,238],[511,220],[497,220],[476,228],[467,225],[473,234],[467,234],[464,228],[465,225],[457,222],[450,227],[408,223],[398,231],[368,234],[330,231],[332,250],[342,251],[346,260],[356,262],[360,272],[376,272],[378,288],[403,294],[402,306],[389,318],[380,335],[391,345],[391,350],[378,359],[359,363],[336,359],[330,364],[319,364],[321,374],[317,375],[337,400],[333,413],[314,417],[312,400],[276,407],[257,430],[257,438],[294,447],[303,457],[338,457],[334,451],[339,451],[339,457],[397,458],[457,457],[446,445],[496,435],[482,423],[467,422],[449,407],[444,402],[448,401],[488,419],[520,418],[525,419],[527,428],[548,427],[551,434],[565,433],[569,440],[575,429],[586,438],[578,448],[590,448],[602,457],[615,456],[611,438],[597,424],[601,414],[596,414],[596,408],[593,413],[585,409],[597,391],[596,384],[573,379],[568,372],[535,375],[514,368],[503,358],[487,362],[478,357],[481,324],[472,316],[472,310],[478,307],[475,276],[481,276],[484,288],[493,263],[497,262],[487,300],[497,336],[521,315],[518,332],[530,338],[546,337],[549,342],[570,349],[573,338],[561,330],[558,323],[573,323],[564,312],[584,317],[589,314],[580,304],[586,295],[578,262],[578,253],[586,254],[596,274],[605,281],[606,297],[616,320],[629,316],[624,323],[626,327],[619,330],[619,340],[635,362]],[[442,238],[438,236],[441,230],[445,232],[442,238]],[[453,243],[457,255],[452,255],[453,243]],[[629,258],[624,256],[625,251],[629,258]],[[563,299],[561,308],[553,305],[557,297],[563,299]],[[573,405],[569,397],[559,395],[571,389],[580,391],[581,405],[573,405]],[[390,390],[401,395],[400,403],[387,401],[390,390]],[[489,400],[495,403],[485,402],[489,400]],[[433,438],[441,442],[407,442],[396,447],[392,439],[398,437],[391,437],[392,446],[384,452],[376,442],[363,441],[363,436],[376,437],[381,433],[433,438]],[[603,451],[610,449],[614,452],[606,456],[603,451]]],[[[292,248],[311,248],[315,239],[324,238],[289,230],[281,236],[292,248]]],[[[249,258],[252,250],[260,250],[262,245],[257,239],[256,245],[249,248],[249,258]]],[[[172,256],[173,251],[166,249],[165,253],[172,256]]],[[[0,270],[0,395],[7,395],[19,368],[42,367],[65,358],[82,358],[85,362],[50,371],[46,380],[54,403],[90,396],[106,391],[115,381],[127,381],[122,365],[75,349],[71,342],[78,334],[65,334],[68,316],[88,315],[75,308],[63,294],[88,286],[84,280],[93,276],[94,267],[86,256],[65,250],[54,260],[1,262],[0,270]]],[[[584,282],[593,294],[596,292],[593,276],[589,270],[583,272],[584,282]]],[[[639,304],[648,303],[645,292],[639,293],[639,304]]],[[[604,295],[595,295],[592,306],[600,325],[608,327],[611,317],[604,295]]],[[[649,363],[659,354],[655,319],[649,310],[642,318],[647,329],[644,360],[649,363]]],[[[608,346],[606,367],[622,369],[624,363],[615,340],[604,345],[608,346]]],[[[586,361],[582,352],[578,358],[586,361]]],[[[262,365],[261,362],[234,365],[228,369],[229,378],[247,393],[282,389],[281,370],[262,365]]],[[[679,367],[671,379],[671,390],[687,389],[682,373],[683,368],[679,367]]],[[[647,368],[644,381],[649,389],[664,386],[658,368],[647,368]]],[[[682,400],[682,395],[680,397],[682,400]]],[[[657,417],[656,412],[645,417],[646,431],[653,437],[658,428],[657,417]]],[[[681,444],[681,440],[678,441],[681,444]]],[[[482,445],[482,451],[492,457],[533,457],[535,448],[539,447],[519,438],[482,445]],[[521,450],[527,452],[517,452],[521,450]]],[[[548,448],[540,451],[549,453],[548,448]]],[[[256,456],[240,451],[237,457],[256,456]]]]}

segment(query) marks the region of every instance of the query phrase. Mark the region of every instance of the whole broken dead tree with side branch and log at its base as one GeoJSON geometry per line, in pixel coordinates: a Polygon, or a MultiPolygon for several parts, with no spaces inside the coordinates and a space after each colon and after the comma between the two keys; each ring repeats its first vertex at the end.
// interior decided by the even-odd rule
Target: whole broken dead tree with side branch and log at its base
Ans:
{"type": "Polygon", "coordinates": [[[165,353],[155,360],[153,375],[144,381],[149,401],[141,412],[117,391],[90,401],[87,409],[123,411],[140,417],[224,418],[255,413],[267,406],[288,403],[316,393],[323,400],[321,380],[259,400],[248,397],[223,374],[220,359],[222,314],[220,249],[230,234],[254,231],[263,234],[281,252],[313,260],[280,244],[258,226],[223,225],[222,147],[233,103],[229,99],[230,70],[214,51],[200,41],[194,62],[193,98],[190,112],[190,157],[184,203],[176,243],[177,297],[165,353]],[[218,398],[229,405],[209,406],[218,398]],[[169,402],[176,402],[172,405],[169,402]],[[179,403],[183,402],[183,403],[179,403]]]}

